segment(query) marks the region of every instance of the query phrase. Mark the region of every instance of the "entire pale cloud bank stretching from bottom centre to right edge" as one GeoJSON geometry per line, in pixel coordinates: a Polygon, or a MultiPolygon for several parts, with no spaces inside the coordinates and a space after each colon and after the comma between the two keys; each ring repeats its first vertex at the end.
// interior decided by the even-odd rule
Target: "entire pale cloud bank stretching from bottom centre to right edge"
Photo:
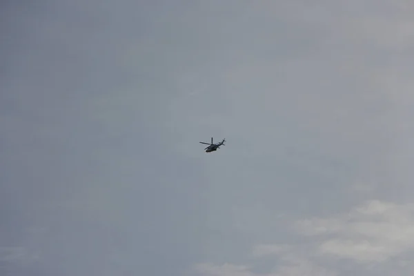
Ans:
{"type": "Polygon", "coordinates": [[[256,244],[250,252],[253,264],[194,266],[201,276],[299,276],[339,275],[336,261],[357,264],[386,264],[383,268],[406,266],[404,253],[414,249],[414,204],[369,200],[346,213],[294,221],[305,238],[290,244],[256,244]],[[401,257],[401,258],[399,258],[401,257]],[[395,262],[388,262],[395,259],[395,262]],[[273,269],[264,273],[264,262],[273,269]],[[335,266],[336,269],[331,268],[335,266]],[[256,268],[262,267],[260,272],[256,268]]]}

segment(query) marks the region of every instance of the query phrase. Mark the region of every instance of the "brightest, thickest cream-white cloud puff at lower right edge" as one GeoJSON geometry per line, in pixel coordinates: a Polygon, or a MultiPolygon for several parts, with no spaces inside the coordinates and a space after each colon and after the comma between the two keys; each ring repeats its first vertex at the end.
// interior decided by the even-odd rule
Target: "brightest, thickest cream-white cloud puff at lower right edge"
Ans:
{"type": "Polygon", "coordinates": [[[359,263],[384,262],[414,249],[414,206],[367,201],[331,218],[297,221],[299,233],[321,236],[319,253],[359,263]]]}

